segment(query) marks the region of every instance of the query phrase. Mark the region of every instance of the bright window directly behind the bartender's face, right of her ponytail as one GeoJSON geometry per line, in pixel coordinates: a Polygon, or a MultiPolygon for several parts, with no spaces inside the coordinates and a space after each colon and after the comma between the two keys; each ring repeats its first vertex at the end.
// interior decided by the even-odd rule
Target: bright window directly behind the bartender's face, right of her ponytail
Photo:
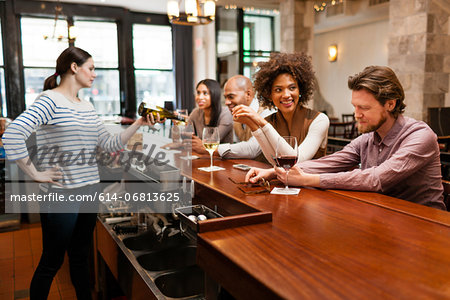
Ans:
{"type": "Polygon", "coordinates": [[[114,22],[75,21],[75,46],[94,59],[97,78],[79,97],[92,102],[99,115],[120,114],[119,54],[117,24],[114,22]]]}

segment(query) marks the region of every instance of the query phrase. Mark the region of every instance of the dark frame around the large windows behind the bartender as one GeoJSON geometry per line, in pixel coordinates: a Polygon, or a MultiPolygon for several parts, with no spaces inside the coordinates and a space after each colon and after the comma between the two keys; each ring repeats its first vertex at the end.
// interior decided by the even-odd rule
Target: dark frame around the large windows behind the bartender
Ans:
{"type": "MultiPolygon", "coordinates": [[[[22,45],[20,36],[20,18],[28,17],[51,17],[54,18],[54,6],[56,3],[45,1],[5,0],[0,1],[0,8],[4,7],[4,21],[2,28],[7,24],[8,37],[3,33],[3,46],[9,45],[4,51],[6,100],[8,106],[8,117],[15,118],[25,110],[25,85],[24,66],[22,58],[22,45]],[[19,53],[19,59],[14,53],[19,53]],[[9,65],[9,66],[8,66],[9,65]],[[12,101],[14,99],[14,101],[12,101]]],[[[117,41],[119,54],[119,84],[120,84],[120,115],[135,117],[136,115],[136,87],[133,68],[132,51],[132,24],[142,23],[151,25],[171,26],[167,15],[155,13],[132,12],[123,7],[97,6],[90,4],[74,4],[62,2],[63,14],[67,19],[73,20],[100,20],[113,21],[117,24],[117,41]]],[[[2,14],[3,17],[3,14],[2,14]]],[[[173,31],[172,31],[173,35],[173,31]]],[[[173,36],[172,36],[173,41],[173,36]]],[[[172,55],[176,51],[172,48],[172,55]]],[[[55,58],[56,60],[56,58],[55,58]]],[[[105,68],[107,69],[107,68],[105,68]]],[[[176,72],[175,65],[172,68],[176,72]]],[[[174,86],[177,89],[177,83],[174,86]]]]}

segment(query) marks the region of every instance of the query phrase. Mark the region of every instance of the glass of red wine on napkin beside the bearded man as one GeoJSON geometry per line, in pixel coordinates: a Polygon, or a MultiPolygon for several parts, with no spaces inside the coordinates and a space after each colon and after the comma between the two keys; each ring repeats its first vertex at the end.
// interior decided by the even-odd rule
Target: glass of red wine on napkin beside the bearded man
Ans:
{"type": "Polygon", "coordinates": [[[297,138],[294,136],[278,137],[275,158],[277,165],[286,171],[286,186],[278,192],[286,195],[297,194],[298,189],[289,188],[287,183],[289,170],[297,163],[298,159],[297,138]]]}

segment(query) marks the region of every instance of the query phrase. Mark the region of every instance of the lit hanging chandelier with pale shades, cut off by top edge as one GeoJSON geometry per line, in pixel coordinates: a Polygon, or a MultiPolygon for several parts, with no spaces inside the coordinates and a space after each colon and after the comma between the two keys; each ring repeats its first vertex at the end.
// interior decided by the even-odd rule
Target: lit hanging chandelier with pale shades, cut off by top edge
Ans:
{"type": "Polygon", "coordinates": [[[214,21],[214,0],[167,0],[167,16],[172,24],[204,25],[214,21]],[[180,6],[184,2],[184,12],[180,6]]]}

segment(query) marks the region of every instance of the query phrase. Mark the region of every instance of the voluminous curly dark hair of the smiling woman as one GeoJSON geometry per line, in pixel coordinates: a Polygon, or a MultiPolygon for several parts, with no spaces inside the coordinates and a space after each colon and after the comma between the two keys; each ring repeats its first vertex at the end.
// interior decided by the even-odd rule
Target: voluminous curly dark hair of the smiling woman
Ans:
{"type": "Polygon", "coordinates": [[[305,53],[272,53],[270,60],[258,63],[260,68],[254,75],[257,99],[262,106],[274,108],[271,99],[272,84],[280,74],[290,74],[297,81],[301,98],[306,104],[314,92],[314,71],[311,58],[305,53]]]}

